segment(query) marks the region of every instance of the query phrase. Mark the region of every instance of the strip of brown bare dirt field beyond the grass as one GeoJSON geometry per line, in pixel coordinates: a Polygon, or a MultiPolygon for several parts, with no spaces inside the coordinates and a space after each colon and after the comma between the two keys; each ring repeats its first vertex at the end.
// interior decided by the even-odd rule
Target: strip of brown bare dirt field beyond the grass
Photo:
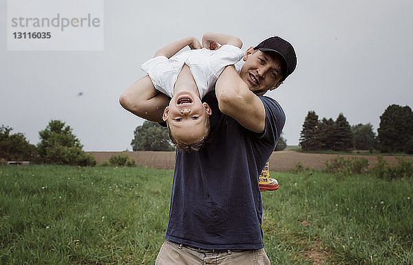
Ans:
{"type": "MultiPolygon", "coordinates": [[[[114,154],[127,154],[132,159],[135,159],[136,165],[147,166],[149,168],[157,168],[160,170],[171,170],[175,162],[175,152],[87,152],[92,154],[98,163],[109,160],[114,154]]],[[[337,157],[337,154],[306,154],[295,151],[279,151],[273,152],[270,157],[270,170],[285,171],[294,168],[297,162],[300,162],[304,167],[322,169],[324,163],[330,159],[337,157]]],[[[341,157],[364,157],[368,159],[370,165],[377,163],[376,156],[370,155],[341,155],[341,157]]],[[[413,157],[407,157],[413,161],[413,157]]],[[[396,157],[384,157],[391,165],[396,165],[396,157]]]]}

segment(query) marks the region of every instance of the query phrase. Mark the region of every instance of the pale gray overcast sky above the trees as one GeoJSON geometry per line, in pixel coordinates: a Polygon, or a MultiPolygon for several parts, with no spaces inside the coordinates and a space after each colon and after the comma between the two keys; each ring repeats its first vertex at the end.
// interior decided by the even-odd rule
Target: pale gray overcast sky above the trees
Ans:
{"type": "Polygon", "coordinates": [[[390,104],[413,107],[411,0],[176,2],[105,1],[104,51],[7,51],[1,1],[0,124],[38,143],[39,130],[60,119],[87,151],[131,150],[143,119],[119,95],[156,49],[207,31],[240,37],[244,50],[269,36],[293,44],[297,69],[266,94],[286,112],[288,145],[298,144],[308,111],[377,130],[390,104]]]}

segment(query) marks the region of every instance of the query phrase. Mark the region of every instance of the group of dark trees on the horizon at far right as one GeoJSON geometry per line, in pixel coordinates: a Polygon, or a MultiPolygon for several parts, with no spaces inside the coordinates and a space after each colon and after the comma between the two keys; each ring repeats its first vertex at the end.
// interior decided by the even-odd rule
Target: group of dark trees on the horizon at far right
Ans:
{"type": "Polygon", "coordinates": [[[379,150],[379,152],[413,153],[413,112],[409,106],[392,104],[380,116],[378,134],[372,125],[350,126],[343,113],[334,121],[319,120],[315,111],[308,111],[300,133],[302,150],[379,150]]]}

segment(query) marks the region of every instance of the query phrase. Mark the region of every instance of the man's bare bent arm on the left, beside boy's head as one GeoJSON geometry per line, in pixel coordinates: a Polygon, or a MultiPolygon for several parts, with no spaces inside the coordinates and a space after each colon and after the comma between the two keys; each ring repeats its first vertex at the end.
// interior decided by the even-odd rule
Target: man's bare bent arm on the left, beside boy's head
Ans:
{"type": "Polygon", "coordinates": [[[149,76],[144,76],[120,95],[119,102],[134,115],[152,122],[163,122],[162,114],[169,105],[169,97],[153,87],[149,76]]]}

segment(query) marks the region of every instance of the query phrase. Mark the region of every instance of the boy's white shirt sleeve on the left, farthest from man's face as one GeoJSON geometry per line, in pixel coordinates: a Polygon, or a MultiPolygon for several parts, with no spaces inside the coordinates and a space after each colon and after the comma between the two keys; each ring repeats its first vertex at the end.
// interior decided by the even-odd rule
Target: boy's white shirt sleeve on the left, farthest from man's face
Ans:
{"type": "Polygon", "coordinates": [[[153,87],[160,93],[173,97],[173,86],[167,82],[173,74],[173,67],[166,56],[156,56],[142,64],[142,71],[151,78],[153,87]]]}

